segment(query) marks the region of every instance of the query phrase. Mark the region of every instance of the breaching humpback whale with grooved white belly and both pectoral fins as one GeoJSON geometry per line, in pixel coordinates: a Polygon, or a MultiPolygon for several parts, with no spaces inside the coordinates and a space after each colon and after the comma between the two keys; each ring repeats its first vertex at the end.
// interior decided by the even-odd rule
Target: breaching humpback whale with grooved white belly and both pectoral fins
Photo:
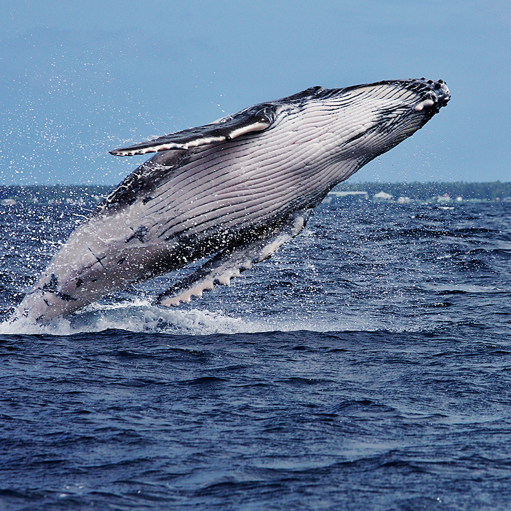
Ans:
{"type": "Polygon", "coordinates": [[[158,297],[164,306],[228,284],[300,233],[336,184],[424,126],[443,80],[311,87],[205,126],[115,149],[155,152],[55,254],[17,314],[39,321],[213,256],[158,297]]]}

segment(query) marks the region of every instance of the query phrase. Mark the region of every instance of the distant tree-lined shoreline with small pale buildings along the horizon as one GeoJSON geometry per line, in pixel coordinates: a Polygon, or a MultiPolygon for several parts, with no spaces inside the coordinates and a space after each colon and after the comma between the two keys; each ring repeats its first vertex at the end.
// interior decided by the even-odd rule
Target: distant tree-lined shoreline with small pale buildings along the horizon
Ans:
{"type": "MultiPolygon", "coordinates": [[[[0,203],[67,202],[94,205],[101,202],[115,187],[102,185],[12,185],[0,187],[0,203]]],[[[389,202],[511,202],[511,182],[412,182],[355,183],[345,181],[327,196],[327,202],[339,199],[372,199],[389,202]]]]}

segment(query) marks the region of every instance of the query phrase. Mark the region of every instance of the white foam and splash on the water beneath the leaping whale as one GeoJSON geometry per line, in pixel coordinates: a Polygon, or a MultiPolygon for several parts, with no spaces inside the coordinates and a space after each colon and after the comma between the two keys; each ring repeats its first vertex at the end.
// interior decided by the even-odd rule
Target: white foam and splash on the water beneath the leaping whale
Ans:
{"type": "MultiPolygon", "coordinates": [[[[305,238],[310,230],[305,229],[305,238]]],[[[235,293],[236,289],[233,290],[235,293]]],[[[469,290],[475,291],[475,290],[469,290]]],[[[495,290],[502,291],[502,290],[495,290]]],[[[494,292],[495,292],[494,291],[494,292]]],[[[200,300],[197,300],[200,307],[200,300]]],[[[271,305],[271,304],[270,304],[271,305]]],[[[411,318],[401,324],[392,316],[365,315],[349,308],[324,311],[314,300],[301,301],[292,310],[275,311],[272,308],[235,311],[208,309],[167,309],[152,304],[149,299],[132,298],[118,303],[94,303],[68,318],[54,318],[48,323],[36,323],[27,318],[0,323],[0,334],[73,335],[94,333],[108,329],[128,332],[162,333],[175,335],[210,335],[236,333],[263,333],[273,331],[339,332],[389,331],[425,332],[438,327],[438,317],[427,315],[417,322],[411,318]]]]}

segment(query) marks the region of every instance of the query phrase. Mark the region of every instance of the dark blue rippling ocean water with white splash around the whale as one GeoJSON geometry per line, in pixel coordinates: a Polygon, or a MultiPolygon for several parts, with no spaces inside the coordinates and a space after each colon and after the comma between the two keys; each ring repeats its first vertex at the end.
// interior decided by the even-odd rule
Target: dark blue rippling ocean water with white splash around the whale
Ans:
{"type": "Polygon", "coordinates": [[[84,212],[0,207],[0,509],[511,509],[511,203],[334,198],[230,287],[44,326],[84,212]]]}

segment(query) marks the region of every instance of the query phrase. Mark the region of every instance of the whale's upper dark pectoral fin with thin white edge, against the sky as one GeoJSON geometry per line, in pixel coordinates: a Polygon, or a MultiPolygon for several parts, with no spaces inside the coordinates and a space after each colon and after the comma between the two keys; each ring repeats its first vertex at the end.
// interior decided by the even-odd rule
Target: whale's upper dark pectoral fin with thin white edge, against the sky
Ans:
{"type": "Polygon", "coordinates": [[[270,127],[275,112],[271,106],[255,105],[235,115],[228,115],[213,124],[185,129],[160,136],[154,140],[114,149],[114,156],[133,156],[135,154],[156,153],[171,149],[190,149],[216,142],[226,142],[250,132],[263,131],[270,127]]]}

